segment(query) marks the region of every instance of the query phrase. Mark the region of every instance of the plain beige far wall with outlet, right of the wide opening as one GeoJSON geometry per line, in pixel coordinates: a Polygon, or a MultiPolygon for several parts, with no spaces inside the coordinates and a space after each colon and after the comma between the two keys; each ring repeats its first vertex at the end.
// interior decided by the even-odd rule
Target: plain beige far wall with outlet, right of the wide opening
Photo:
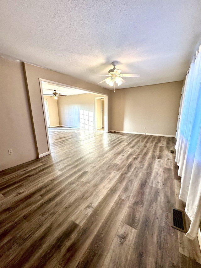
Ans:
{"type": "Polygon", "coordinates": [[[111,96],[111,130],[175,135],[182,84],[116,90],[111,96]]]}

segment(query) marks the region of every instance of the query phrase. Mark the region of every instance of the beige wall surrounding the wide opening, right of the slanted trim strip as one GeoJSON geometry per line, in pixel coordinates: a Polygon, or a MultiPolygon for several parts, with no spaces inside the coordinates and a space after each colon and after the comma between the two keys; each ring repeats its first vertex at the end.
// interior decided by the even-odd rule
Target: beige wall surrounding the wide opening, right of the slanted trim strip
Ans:
{"type": "MultiPolygon", "coordinates": [[[[31,111],[35,128],[35,137],[39,155],[48,152],[48,143],[44,123],[45,119],[43,115],[39,78],[109,95],[110,105],[110,90],[84,82],[80,79],[71,77],[66,74],[57,73],[55,71],[37,67],[28,63],[24,63],[24,67],[26,72],[31,111]]],[[[108,122],[108,124],[110,124],[110,121],[108,122]]]]}

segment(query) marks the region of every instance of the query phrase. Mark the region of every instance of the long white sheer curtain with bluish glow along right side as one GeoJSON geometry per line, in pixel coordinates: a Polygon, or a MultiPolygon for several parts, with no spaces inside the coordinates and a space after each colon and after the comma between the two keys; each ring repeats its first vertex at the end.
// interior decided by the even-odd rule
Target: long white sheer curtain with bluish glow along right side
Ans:
{"type": "Polygon", "coordinates": [[[175,146],[182,177],[179,198],[186,202],[185,211],[191,219],[186,236],[194,239],[201,219],[201,46],[186,78],[180,118],[175,146]]]}

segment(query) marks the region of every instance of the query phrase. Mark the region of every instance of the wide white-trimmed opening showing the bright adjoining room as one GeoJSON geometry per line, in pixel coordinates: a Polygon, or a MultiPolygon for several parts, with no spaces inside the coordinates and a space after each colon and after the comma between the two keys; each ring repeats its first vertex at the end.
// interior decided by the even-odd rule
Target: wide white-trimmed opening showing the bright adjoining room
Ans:
{"type": "Polygon", "coordinates": [[[108,132],[108,96],[39,79],[49,152],[52,131],[108,132]]]}

